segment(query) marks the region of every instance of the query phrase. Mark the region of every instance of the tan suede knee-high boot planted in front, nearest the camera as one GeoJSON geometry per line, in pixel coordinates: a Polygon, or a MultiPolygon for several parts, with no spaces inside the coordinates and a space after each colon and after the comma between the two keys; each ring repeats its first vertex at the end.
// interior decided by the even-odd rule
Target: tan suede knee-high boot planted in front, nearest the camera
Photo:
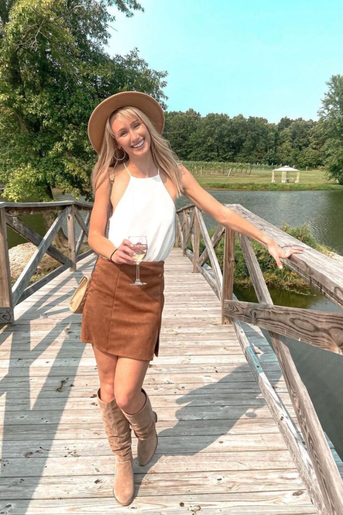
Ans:
{"type": "Polygon", "coordinates": [[[134,497],[133,456],[131,450],[131,428],[128,420],[113,399],[104,402],[100,398],[100,388],[97,399],[105,433],[109,439],[111,450],[116,455],[116,472],[113,483],[113,495],[118,503],[126,506],[134,497]]]}

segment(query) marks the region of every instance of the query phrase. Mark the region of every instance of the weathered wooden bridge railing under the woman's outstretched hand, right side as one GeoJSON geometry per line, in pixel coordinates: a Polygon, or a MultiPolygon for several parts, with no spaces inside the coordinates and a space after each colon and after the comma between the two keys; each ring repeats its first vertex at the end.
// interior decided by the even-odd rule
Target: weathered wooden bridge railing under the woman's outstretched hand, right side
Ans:
{"type": "MultiPolygon", "coordinates": [[[[343,267],[339,263],[312,247],[304,245],[293,236],[251,213],[242,205],[225,205],[273,237],[280,246],[301,245],[305,247],[301,254],[292,254],[283,262],[328,299],[339,307],[343,307],[343,267]]],[[[235,232],[229,227],[218,226],[210,238],[202,213],[193,204],[176,211],[175,229],[175,245],[182,248],[183,254],[187,255],[193,263],[193,272],[203,274],[221,301],[222,323],[233,325],[247,362],[280,428],[318,513],[342,515],[342,479],[309,393],[301,381],[291,353],[285,344],[285,336],[342,354],[343,314],[274,305],[249,238],[240,233],[237,233],[237,237],[259,302],[233,300],[235,232]],[[201,255],[200,233],[205,243],[205,249],[201,255]],[[222,237],[225,238],[223,273],[214,251],[222,237]],[[189,240],[192,243],[193,251],[187,248],[189,240]],[[211,267],[206,265],[205,261],[207,260],[210,261],[211,267]],[[304,447],[297,427],[288,415],[284,403],[263,372],[261,362],[250,345],[240,320],[258,325],[268,331],[307,449],[304,447]]]]}

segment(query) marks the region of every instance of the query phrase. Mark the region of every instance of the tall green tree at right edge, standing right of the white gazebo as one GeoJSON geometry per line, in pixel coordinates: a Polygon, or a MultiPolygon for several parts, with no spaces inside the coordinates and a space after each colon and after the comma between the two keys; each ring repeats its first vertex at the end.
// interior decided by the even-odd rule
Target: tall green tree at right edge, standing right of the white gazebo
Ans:
{"type": "Polygon", "coordinates": [[[316,136],[326,156],[327,176],[343,184],[343,75],[333,75],[326,84],[316,136]]]}

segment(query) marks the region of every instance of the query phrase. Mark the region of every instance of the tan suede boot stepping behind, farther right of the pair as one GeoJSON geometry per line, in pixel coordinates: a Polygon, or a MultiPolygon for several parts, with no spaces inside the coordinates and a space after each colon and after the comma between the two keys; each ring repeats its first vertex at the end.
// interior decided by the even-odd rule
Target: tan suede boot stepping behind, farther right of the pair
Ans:
{"type": "Polygon", "coordinates": [[[157,414],[152,410],[150,399],[144,388],[141,391],[146,394],[145,405],[133,415],[123,414],[128,419],[133,431],[138,438],[137,442],[137,459],[141,467],[147,465],[151,460],[157,448],[158,438],[155,423],[157,422],[157,414]]]}

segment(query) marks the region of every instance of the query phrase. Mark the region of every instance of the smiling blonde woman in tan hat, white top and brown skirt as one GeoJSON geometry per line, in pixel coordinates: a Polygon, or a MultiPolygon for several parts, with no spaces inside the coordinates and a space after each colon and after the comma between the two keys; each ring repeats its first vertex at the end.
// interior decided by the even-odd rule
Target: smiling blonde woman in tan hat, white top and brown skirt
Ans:
{"type": "Polygon", "coordinates": [[[122,505],[134,497],[131,428],[138,438],[139,465],[157,447],[157,415],[142,388],[149,362],[158,356],[164,306],[164,261],[175,239],[175,202],[183,193],[220,224],[255,238],[282,267],[301,247],[277,245],[272,238],[207,193],[182,164],[161,133],[164,112],[145,93],[117,93],[93,111],[88,135],[99,153],[92,173],[94,206],[88,243],[99,254],[84,305],[81,341],[95,354],[100,388],[97,399],[110,447],[116,454],[113,493],[122,505]],[[105,237],[109,173],[115,178],[112,216],[105,237]],[[132,286],[136,264],[130,235],[146,235],[148,250],[140,279],[132,286]]]}

